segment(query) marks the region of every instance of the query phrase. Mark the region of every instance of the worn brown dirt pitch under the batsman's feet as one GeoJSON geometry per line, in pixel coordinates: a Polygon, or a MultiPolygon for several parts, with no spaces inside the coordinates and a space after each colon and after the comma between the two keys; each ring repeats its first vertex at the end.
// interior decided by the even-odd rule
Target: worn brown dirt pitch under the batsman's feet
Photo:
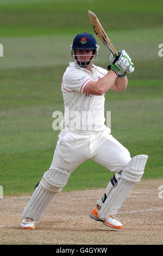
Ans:
{"type": "Polygon", "coordinates": [[[35,230],[20,227],[31,194],[0,199],[1,245],[162,245],[163,179],[136,184],[116,214],[122,229],[89,217],[105,188],[60,192],[35,230]]]}

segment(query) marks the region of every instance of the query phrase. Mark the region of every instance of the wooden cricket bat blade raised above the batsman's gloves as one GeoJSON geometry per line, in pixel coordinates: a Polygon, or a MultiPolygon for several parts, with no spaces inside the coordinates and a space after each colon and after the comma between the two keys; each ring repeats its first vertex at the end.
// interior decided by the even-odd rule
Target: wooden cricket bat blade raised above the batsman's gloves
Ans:
{"type": "Polygon", "coordinates": [[[99,22],[96,14],[93,13],[92,11],[90,11],[90,10],[87,11],[87,13],[90,17],[90,21],[92,23],[93,31],[98,36],[99,40],[101,40],[103,42],[103,44],[110,50],[110,52],[112,52],[112,53],[116,54],[116,56],[118,56],[118,53],[117,53],[115,47],[112,45],[112,42],[108,38],[108,35],[106,35],[106,33],[105,33],[101,23],[99,22]]]}

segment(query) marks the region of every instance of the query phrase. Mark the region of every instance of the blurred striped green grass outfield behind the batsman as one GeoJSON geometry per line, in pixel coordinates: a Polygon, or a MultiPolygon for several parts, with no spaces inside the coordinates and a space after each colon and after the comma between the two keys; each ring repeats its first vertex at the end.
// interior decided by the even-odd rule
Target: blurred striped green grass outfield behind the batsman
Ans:
{"type": "MultiPolygon", "coordinates": [[[[147,154],[143,179],[162,178],[163,2],[0,0],[0,185],[4,196],[32,193],[49,168],[59,131],[52,113],[64,111],[61,79],[71,61],[77,33],[94,33],[87,10],[96,13],[112,43],[132,57],[128,89],[106,93],[112,135],[131,157],[147,154]]],[[[95,34],[93,34],[95,35],[95,34]]],[[[96,65],[106,68],[110,52],[97,39],[96,65]]],[[[67,190],[105,187],[107,169],[91,160],[71,175],[67,190]]]]}

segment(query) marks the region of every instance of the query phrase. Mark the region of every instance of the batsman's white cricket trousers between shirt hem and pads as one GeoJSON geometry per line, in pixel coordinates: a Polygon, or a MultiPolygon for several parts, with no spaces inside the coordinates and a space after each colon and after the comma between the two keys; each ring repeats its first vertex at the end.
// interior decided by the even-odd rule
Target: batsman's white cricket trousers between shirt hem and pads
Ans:
{"type": "Polygon", "coordinates": [[[111,172],[118,172],[126,166],[131,157],[129,151],[110,135],[110,129],[107,127],[100,132],[62,130],[50,169],[59,168],[72,173],[88,159],[111,172]]]}

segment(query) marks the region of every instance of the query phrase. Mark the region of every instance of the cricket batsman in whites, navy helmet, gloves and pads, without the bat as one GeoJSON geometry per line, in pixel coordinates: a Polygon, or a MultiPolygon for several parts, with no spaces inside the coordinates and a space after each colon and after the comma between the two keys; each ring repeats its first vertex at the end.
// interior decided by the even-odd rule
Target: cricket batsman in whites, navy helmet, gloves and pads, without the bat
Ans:
{"type": "Polygon", "coordinates": [[[67,67],[61,83],[65,107],[62,130],[51,166],[22,212],[23,229],[35,228],[51,200],[67,184],[71,173],[88,159],[113,173],[90,217],[110,228],[122,228],[122,223],[114,215],[133,186],[141,180],[148,156],[131,158],[129,151],[105,125],[105,93],[125,90],[128,85],[126,74],[134,71],[134,64],[122,50],[118,56],[111,54],[108,70],[103,69],[93,64],[98,50],[92,34],[80,33],[73,40],[73,62],[67,67]]]}

